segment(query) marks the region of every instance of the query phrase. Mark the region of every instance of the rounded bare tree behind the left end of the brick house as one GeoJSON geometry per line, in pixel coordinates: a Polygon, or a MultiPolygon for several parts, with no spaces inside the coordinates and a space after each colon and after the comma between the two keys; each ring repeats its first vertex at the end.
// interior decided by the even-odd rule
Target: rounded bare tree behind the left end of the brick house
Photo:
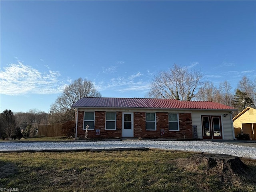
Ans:
{"type": "Polygon", "coordinates": [[[66,122],[74,120],[74,110],[71,106],[83,97],[101,97],[90,80],[78,78],[67,86],[50,107],[51,122],[66,122]]]}

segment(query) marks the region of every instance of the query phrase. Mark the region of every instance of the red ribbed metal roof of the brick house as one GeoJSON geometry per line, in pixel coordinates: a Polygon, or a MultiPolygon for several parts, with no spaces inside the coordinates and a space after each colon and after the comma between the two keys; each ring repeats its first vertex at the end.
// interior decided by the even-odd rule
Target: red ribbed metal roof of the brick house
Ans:
{"type": "Polygon", "coordinates": [[[161,108],[161,109],[207,109],[236,110],[230,106],[210,101],[179,101],[154,98],[104,98],[85,97],[72,108],[161,108]]]}

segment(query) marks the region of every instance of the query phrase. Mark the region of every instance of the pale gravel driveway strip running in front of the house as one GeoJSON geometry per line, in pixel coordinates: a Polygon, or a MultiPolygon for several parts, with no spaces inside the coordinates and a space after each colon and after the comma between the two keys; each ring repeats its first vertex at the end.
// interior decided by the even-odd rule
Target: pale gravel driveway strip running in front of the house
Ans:
{"type": "Polygon", "coordinates": [[[228,154],[256,159],[256,148],[211,141],[149,141],[118,140],[93,142],[1,142],[0,150],[71,150],[71,149],[111,149],[111,148],[159,148],[228,154]]]}

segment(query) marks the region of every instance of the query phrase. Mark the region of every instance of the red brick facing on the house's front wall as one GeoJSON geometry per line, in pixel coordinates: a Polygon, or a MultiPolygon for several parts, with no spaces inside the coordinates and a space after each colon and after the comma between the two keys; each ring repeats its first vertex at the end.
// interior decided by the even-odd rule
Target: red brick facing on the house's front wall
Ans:
{"type": "MultiPolygon", "coordinates": [[[[94,130],[88,130],[88,138],[121,138],[122,112],[116,112],[116,130],[105,130],[106,112],[95,111],[94,130]],[[96,135],[96,130],[100,135],[96,135]]],[[[85,138],[84,112],[78,112],[77,137],[85,138]]],[[[156,112],[156,130],[146,130],[146,113],[134,112],[134,138],[190,139],[192,136],[191,113],[179,113],[180,131],[169,131],[168,112],[156,112]],[[161,135],[164,130],[164,135],[161,135]]]]}

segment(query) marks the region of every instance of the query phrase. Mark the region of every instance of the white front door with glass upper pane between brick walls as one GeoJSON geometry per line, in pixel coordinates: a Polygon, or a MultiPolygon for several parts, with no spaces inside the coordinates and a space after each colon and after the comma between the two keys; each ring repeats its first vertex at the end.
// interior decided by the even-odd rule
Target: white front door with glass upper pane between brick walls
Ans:
{"type": "Polygon", "coordinates": [[[122,137],[133,137],[133,113],[122,114],[122,137]]]}

